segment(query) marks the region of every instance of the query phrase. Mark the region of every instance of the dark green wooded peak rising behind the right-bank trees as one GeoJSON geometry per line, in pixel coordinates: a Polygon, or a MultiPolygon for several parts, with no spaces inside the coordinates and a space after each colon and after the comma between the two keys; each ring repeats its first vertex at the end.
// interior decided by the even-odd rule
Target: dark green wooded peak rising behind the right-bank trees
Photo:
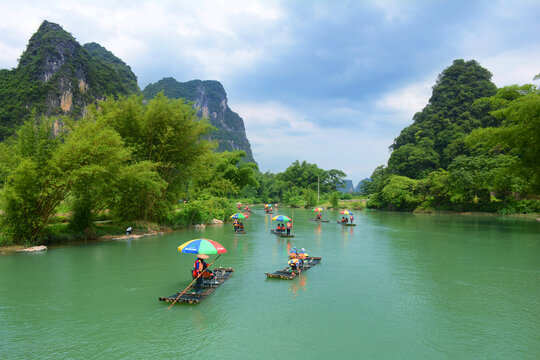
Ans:
{"type": "Polygon", "coordinates": [[[419,179],[438,168],[446,169],[466,151],[463,139],[467,134],[478,127],[498,125],[485,106],[473,105],[497,92],[491,76],[474,60],[456,60],[446,68],[433,86],[429,103],[390,147],[388,167],[392,172],[419,179]]]}

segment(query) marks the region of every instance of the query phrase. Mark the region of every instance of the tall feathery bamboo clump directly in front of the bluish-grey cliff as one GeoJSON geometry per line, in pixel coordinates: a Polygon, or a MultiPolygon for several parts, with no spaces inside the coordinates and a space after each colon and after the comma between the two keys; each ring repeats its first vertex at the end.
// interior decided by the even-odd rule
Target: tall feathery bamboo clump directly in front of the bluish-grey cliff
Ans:
{"type": "Polygon", "coordinates": [[[203,137],[212,128],[196,117],[196,110],[183,100],[163,94],[143,102],[141,96],[107,100],[91,117],[114,129],[132,151],[134,163],[149,161],[167,184],[160,199],[153,199],[145,212],[149,220],[164,218],[186,189],[198,165],[211,154],[215,144],[203,137]]]}

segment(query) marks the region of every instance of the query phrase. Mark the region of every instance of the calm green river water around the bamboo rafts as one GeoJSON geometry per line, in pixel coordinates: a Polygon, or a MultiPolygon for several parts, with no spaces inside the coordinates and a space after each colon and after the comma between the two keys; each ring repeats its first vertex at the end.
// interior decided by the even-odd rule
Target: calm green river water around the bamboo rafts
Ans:
{"type": "MultiPolygon", "coordinates": [[[[2,359],[538,359],[540,221],[356,212],[356,227],[294,215],[291,244],[322,263],[292,281],[287,240],[256,208],[232,225],[0,256],[2,359]],[[198,305],[158,301],[191,282],[205,237],[233,276],[198,305]]],[[[212,258],[210,259],[210,261],[212,258]]]]}

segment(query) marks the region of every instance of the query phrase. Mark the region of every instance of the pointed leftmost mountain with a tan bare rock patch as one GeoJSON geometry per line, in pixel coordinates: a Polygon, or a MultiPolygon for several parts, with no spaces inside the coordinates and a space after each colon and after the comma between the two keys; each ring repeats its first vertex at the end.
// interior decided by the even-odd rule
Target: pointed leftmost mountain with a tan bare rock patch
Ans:
{"type": "Polygon", "coordinates": [[[80,117],[97,99],[138,92],[135,74],[111,52],[95,43],[83,47],[44,21],[18,66],[0,70],[0,140],[33,112],[80,117]]]}

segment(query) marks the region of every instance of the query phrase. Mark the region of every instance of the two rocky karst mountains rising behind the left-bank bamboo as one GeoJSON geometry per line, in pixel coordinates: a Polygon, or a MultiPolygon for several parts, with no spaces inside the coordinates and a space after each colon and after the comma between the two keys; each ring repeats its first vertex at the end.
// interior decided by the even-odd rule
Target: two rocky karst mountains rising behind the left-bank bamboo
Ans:
{"type": "Polygon", "coordinates": [[[26,119],[39,115],[81,118],[89,105],[105,97],[144,94],[152,98],[163,91],[184,98],[217,128],[210,136],[218,150],[243,150],[253,161],[244,121],[227,104],[217,81],[186,83],[165,78],[142,92],[131,68],[97,43],[80,45],[60,25],[44,21],[30,38],[15,69],[0,70],[0,140],[15,132],[26,119]]]}

